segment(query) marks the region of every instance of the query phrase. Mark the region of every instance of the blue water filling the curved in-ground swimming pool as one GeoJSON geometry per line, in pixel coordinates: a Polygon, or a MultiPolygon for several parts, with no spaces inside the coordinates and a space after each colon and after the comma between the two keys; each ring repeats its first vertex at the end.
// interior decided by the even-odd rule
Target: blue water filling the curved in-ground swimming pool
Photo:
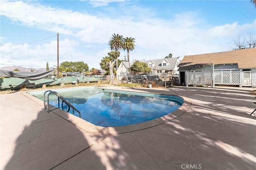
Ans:
{"type": "MultiPolygon", "coordinates": [[[[179,96],[102,90],[94,87],[54,91],[81,112],[80,118],[102,127],[150,121],[172,113],[184,102],[179,96]]],[[[43,100],[43,93],[44,91],[29,94],[43,100]]],[[[50,94],[49,101],[51,105],[58,107],[58,98],[54,94],[50,94]]],[[[69,112],[73,113],[72,108],[69,112]]],[[[79,117],[76,111],[74,115],[79,117]]]]}

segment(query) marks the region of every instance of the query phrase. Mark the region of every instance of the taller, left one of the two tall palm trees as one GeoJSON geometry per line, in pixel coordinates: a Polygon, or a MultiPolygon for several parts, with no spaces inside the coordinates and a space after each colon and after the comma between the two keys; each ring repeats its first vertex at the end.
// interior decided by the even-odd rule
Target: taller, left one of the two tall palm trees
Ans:
{"type": "MultiPolygon", "coordinates": [[[[123,49],[124,39],[122,35],[119,34],[112,34],[112,37],[108,41],[108,45],[110,46],[111,50],[118,51],[119,49],[123,49]]],[[[116,70],[118,68],[118,59],[116,58],[116,70]]]]}

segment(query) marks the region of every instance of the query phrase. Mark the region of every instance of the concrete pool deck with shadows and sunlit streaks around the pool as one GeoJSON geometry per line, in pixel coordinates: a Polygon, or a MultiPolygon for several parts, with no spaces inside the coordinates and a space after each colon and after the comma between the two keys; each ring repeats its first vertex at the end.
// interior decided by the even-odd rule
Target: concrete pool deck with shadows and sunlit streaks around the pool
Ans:
{"type": "Polygon", "coordinates": [[[24,92],[0,95],[1,169],[256,169],[255,88],[104,88],[178,95],[185,104],[151,125],[102,128],[47,113],[24,92]]]}

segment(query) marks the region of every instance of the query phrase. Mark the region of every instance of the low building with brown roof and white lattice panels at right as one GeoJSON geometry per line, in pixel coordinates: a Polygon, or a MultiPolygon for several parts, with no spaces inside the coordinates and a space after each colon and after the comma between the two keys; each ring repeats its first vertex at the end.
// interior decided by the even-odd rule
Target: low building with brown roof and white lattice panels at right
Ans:
{"type": "Polygon", "coordinates": [[[178,67],[181,85],[256,87],[256,48],[188,55],[178,67]]]}

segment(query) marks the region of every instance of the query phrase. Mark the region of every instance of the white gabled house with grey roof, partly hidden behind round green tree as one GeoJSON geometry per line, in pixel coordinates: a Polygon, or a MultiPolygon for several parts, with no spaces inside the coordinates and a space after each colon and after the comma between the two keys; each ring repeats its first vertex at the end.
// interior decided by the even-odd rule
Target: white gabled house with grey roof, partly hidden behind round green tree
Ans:
{"type": "MultiPolygon", "coordinates": [[[[148,60],[140,61],[148,64],[148,67],[151,68],[151,75],[158,75],[160,78],[166,76],[175,76],[178,74],[178,64],[180,63],[179,58],[168,58],[168,59],[157,59],[157,60],[148,60]]],[[[134,62],[125,62],[119,65],[116,74],[118,76],[124,76],[127,73],[130,73],[130,66],[134,62]]]]}

